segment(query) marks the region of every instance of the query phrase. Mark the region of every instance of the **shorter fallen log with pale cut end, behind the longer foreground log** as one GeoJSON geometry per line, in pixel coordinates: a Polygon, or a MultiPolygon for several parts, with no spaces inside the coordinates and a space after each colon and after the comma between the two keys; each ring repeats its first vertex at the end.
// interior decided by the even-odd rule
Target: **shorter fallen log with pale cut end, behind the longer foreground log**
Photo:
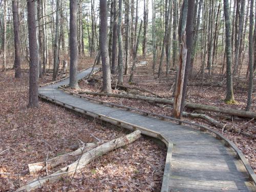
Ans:
{"type": "MultiPolygon", "coordinates": [[[[47,161],[47,168],[51,169],[51,168],[54,168],[58,165],[63,164],[64,162],[74,160],[77,156],[81,155],[82,153],[86,153],[86,152],[92,150],[93,148],[95,148],[97,146],[98,146],[97,143],[83,144],[82,147],[78,148],[74,152],[70,152],[70,153],[67,153],[67,154],[57,156],[53,159],[49,159],[47,161]]],[[[37,163],[28,164],[28,166],[29,166],[29,173],[33,174],[35,172],[40,172],[41,170],[46,170],[46,161],[41,161],[41,162],[37,162],[37,163]]]]}

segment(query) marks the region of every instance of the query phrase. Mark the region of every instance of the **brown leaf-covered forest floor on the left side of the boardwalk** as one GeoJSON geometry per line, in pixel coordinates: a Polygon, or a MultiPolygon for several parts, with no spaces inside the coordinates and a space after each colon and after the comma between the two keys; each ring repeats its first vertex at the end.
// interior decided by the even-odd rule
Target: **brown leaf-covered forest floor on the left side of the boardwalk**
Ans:
{"type": "MultiPolygon", "coordinates": [[[[13,70],[0,72],[0,191],[46,175],[30,175],[28,164],[45,161],[48,153],[52,158],[70,152],[78,139],[94,142],[93,134],[109,141],[124,135],[51,103],[39,101],[38,109],[28,109],[28,73],[22,79],[13,77],[13,70]],[[19,174],[19,179],[3,173],[19,174]]],[[[51,73],[39,83],[49,81],[51,73]]],[[[165,148],[142,137],[88,164],[71,184],[71,178],[63,178],[36,191],[66,191],[69,185],[70,191],[160,191],[165,155],[165,148]]]]}

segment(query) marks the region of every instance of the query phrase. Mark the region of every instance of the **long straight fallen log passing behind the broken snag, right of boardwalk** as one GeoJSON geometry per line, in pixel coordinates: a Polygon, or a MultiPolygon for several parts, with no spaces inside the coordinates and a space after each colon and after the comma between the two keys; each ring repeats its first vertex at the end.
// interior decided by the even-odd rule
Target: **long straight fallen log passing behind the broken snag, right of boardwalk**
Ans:
{"type": "MultiPolygon", "coordinates": [[[[78,92],[78,94],[107,96],[107,97],[118,97],[118,98],[126,98],[126,99],[139,99],[139,100],[144,100],[144,101],[151,101],[151,102],[170,104],[170,105],[173,105],[173,103],[174,103],[173,100],[169,100],[169,99],[162,99],[162,98],[155,98],[155,97],[145,97],[145,96],[131,95],[131,94],[109,94],[109,93],[95,93],[95,92],[89,92],[89,91],[78,92]]],[[[204,104],[197,104],[197,103],[189,103],[189,102],[185,103],[185,107],[190,108],[190,109],[211,111],[211,112],[228,114],[228,115],[233,115],[233,116],[238,116],[238,117],[256,119],[256,113],[249,112],[249,111],[225,109],[225,108],[219,108],[218,106],[211,106],[211,105],[204,105],[204,104]]]]}

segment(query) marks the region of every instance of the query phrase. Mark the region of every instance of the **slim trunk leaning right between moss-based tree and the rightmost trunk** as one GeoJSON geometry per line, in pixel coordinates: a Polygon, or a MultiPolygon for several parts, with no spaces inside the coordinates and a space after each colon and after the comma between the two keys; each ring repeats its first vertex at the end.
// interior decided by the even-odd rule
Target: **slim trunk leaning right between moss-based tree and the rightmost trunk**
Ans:
{"type": "Polygon", "coordinates": [[[242,31],[243,31],[243,22],[244,22],[244,10],[245,10],[245,1],[241,1],[241,8],[240,8],[240,16],[239,16],[239,29],[238,29],[238,38],[236,41],[236,47],[234,51],[234,69],[233,74],[237,74],[238,72],[238,65],[239,65],[239,52],[240,52],[240,44],[242,38],[242,31]]]}

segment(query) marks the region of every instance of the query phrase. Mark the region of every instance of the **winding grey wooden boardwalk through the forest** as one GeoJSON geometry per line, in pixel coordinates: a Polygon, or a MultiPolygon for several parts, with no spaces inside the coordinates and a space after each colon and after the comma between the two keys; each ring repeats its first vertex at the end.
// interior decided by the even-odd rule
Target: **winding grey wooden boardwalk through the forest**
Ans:
{"type": "MultiPolygon", "coordinates": [[[[90,71],[78,73],[78,78],[83,78],[90,71]]],[[[208,132],[73,96],[58,89],[65,84],[69,84],[69,78],[39,88],[39,95],[89,116],[96,115],[98,118],[109,118],[109,122],[116,120],[132,127],[144,127],[173,143],[167,152],[162,191],[256,191],[248,177],[251,167],[245,166],[246,162],[238,159],[237,152],[226,147],[223,140],[216,139],[208,132]]],[[[255,175],[250,173],[255,181],[255,175]]]]}

